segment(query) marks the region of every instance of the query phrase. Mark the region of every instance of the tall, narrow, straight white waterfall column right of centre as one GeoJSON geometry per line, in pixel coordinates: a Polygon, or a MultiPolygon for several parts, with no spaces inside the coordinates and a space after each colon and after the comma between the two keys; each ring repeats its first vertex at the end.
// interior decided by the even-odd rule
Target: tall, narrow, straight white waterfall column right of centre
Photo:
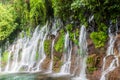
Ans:
{"type": "Polygon", "coordinates": [[[73,80],[87,80],[86,78],[86,59],[87,59],[87,40],[86,40],[86,28],[84,25],[81,26],[80,36],[79,36],[79,46],[80,46],[80,74],[73,78],[73,80]]]}

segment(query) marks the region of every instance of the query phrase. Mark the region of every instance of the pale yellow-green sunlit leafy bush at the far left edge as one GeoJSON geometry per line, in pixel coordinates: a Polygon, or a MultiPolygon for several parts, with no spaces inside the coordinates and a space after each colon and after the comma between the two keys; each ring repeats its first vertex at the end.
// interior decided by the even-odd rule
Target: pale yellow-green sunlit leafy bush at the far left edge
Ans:
{"type": "Polygon", "coordinates": [[[7,38],[16,29],[13,10],[11,5],[0,4],[0,40],[7,38]]]}

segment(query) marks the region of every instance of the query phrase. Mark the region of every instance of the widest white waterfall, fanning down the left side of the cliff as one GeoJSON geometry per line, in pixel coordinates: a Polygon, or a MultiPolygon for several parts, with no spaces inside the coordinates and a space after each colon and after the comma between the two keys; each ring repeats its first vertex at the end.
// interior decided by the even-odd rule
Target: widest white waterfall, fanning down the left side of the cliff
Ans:
{"type": "MultiPolygon", "coordinates": [[[[44,41],[47,37],[47,24],[35,29],[32,37],[18,38],[8,49],[8,61],[1,72],[40,71],[46,58],[44,41]]],[[[1,53],[0,53],[1,55],[1,53]]],[[[1,58],[0,58],[0,62],[1,58]]]]}

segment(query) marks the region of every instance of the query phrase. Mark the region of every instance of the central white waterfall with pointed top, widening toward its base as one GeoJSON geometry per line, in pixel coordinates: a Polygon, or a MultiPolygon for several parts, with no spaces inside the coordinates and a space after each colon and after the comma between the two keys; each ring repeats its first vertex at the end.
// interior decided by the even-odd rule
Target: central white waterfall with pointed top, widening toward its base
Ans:
{"type": "Polygon", "coordinates": [[[65,50],[65,52],[63,53],[64,61],[63,61],[63,65],[61,67],[60,73],[70,74],[72,43],[70,42],[68,32],[65,35],[64,50],[65,50]]]}

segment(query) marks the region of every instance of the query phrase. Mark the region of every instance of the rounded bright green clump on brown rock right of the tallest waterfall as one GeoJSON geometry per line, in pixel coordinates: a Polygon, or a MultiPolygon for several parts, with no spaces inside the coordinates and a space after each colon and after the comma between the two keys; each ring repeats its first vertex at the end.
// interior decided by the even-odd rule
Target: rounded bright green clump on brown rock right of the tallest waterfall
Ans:
{"type": "Polygon", "coordinates": [[[108,27],[104,23],[97,23],[98,24],[98,32],[92,32],[90,34],[90,38],[93,40],[96,48],[103,47],[107,40],[107,29],[108,27]]]}

